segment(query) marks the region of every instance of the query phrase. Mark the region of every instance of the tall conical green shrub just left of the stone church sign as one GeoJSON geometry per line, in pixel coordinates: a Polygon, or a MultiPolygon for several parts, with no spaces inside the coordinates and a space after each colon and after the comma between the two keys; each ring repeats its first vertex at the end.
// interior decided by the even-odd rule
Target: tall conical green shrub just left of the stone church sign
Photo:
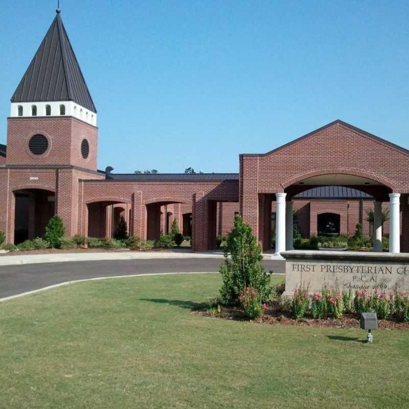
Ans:
{"type": "Polygon", "coordinates": [[[234,219],[234,229],[223,246],[224,263],[220,265],[222,286],[220,297],[223,303],[237,304],[240,292],[252,287],[260,294],[261,302],[268,300],[271,292],[270,275],[264,271],[261,247],[249,224],[240,215],[234,219]],[[228,259],[229,253],[231,260],[228,259]]]}

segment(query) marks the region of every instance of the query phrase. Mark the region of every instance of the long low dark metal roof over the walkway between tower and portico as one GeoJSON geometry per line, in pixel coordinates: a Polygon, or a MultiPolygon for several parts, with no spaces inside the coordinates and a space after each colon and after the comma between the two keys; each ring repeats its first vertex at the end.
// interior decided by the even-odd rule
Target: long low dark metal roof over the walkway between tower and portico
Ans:
{"type": "Polygon", "coordinates": [[[238,173],[107,173],[106,179],[133,181],[213,181],[239,180],[238,173]]]}

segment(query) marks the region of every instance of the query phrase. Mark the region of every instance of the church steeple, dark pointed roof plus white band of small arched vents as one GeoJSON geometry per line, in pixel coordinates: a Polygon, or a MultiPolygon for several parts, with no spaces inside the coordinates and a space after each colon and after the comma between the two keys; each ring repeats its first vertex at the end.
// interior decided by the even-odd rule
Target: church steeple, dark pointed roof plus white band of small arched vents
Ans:
{"type": "Polygon", "coordinates": [[[95,124],[97,110],[62,23],[60,10],[57,9],[56,12],[46,36],[11,98],[11,116],[72,115],[95,124]],[[72,103],[64,104],[64,109],[59,109],[60,105],[56,103],[66,101],[72,103]],[[36,106],[35,112],[31,103],[43,104],[36,106]]]}

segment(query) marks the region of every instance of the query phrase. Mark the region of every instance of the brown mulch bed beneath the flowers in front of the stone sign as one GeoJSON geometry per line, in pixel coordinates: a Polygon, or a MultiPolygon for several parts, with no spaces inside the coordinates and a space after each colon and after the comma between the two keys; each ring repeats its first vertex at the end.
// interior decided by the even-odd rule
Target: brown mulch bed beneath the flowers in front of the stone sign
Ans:
{"type": "MultiPolygon", "coordinates": [[[[232,321],[248,321],[244,312],[238,307],[221,307],[221,312],[211,313],[208,309],[192,310],[192,313],[232,321]]],[[[355,314],[345,314],[339,319],[326,318],[322,320],[313,320],[305,318],[294,320],[288,313],[283,313],[275,308],[269,307],[264,310],[263,315],[254,321],[255,324],[267,325],[297,325],[301,327],[329,327],[329,328],[359,328],[359,319],[355,314]]],[[[409,323],[401,323],[396,320],[378,320],[378,329],[384,330],[408,330],[409,323]]]]}

